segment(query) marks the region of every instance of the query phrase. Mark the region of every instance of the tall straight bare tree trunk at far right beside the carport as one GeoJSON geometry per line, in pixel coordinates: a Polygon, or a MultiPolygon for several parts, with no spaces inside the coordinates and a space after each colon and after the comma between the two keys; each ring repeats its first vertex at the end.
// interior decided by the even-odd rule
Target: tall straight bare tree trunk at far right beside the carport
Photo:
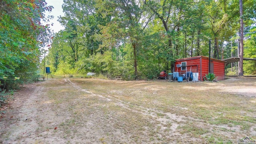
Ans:
{"type": "Polygon", "coordinates": [[[243,60],[244,60],[244,20],[243,20],[243,2],[239,0],[239,12],[240,12],[240,53],[238,63],[238,76],[244,76],[243,72],[243,60]]]}

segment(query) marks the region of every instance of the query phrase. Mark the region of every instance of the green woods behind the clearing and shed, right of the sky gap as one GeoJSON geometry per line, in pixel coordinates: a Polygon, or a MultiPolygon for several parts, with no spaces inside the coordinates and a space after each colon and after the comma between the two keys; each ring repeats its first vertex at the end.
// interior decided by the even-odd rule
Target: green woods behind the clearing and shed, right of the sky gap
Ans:
{"type": "MultiPolygon", "coordinates": [[[[54,74],[156,78],[174,60],[239,53],[238,0],[64,0],[65,27],[46,56],[54,74]]],[[[256,0],[243,1],[244,57],[256,58],[256,0]]],[[[230,66],[229,66],[230,67],[230,66]]],[[[244,62],[256,74],[255,61],[244,62]]]]}

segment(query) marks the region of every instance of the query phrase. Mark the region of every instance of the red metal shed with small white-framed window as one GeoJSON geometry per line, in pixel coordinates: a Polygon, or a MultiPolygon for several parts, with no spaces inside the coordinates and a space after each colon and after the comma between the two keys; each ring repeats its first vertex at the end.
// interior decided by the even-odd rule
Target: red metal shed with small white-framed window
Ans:
{"type": "MultiPolygon", "coordinates": [[[[198,72],[198,80],[203,81],[203,76],[209,73],[209,58],[206,56],[194,56],[191,58],[178,59],[175,62],[174,71],[183,74],[189,72],[198,72]],[[178,64],[180,64],[180,67],[178,64]]],[[[210,59],[210,73],[218,76],[217,80],[224,80],[225,62],[214,58],[210,59]]]]}

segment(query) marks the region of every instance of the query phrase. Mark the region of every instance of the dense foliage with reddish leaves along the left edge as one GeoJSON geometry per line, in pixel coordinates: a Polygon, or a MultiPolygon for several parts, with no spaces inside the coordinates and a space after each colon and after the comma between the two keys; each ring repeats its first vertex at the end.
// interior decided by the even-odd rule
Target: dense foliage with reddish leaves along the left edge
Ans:
{"type": "Polygon", "coordinates": [[[52,9],[44,0],[0,1],[0,91],[38,78],[43,47],[53,38],[50,24],[41,22],[52,9]]]}

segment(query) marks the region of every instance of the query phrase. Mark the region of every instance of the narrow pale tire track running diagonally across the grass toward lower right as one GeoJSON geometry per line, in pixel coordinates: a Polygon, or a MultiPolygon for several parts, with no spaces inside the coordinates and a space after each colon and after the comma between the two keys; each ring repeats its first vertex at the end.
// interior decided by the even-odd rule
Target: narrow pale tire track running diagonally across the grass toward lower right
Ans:
{"type": "MultiPolygon", "coordinates": [[[[146,107],[143,107],[143,106],[134,105],[134,104],[131,104],[129,102],[124,102],[124,101],[122,101],[118,98],[115,98],[113,96],[97,95],[97,94],[94,94],[94,93],[88,91],[87,89],[80,88],[80,86],[78,86],[74,82],[71,82],[70,79],[65,79],[65,82],[68,82],[68,84],[72,85],[77,90],[80,90],[80,91],[91,94],[91,96],[98,96],[98,97],[104,98],[108,101],[113,101],[117,106],[120,106],[124,109],[130,110],[132,112],[140,113],[144,116],[151,116],[152,121],[160,122],[159,126],[161,126],[162,130],[167,128],[166,125],[168,123],[171,123],[170,136],[182,136],[182,137],[186,138],[187,136],[184,136],[184,135],[180,134],[177,131],[177,128],[178,128],[178,126],[183,126],[185,124],[188,124],[189,122],[195,122],[194,124],[196,124],[198,127],[205,128],[205,129],[208,129],[210,131],[214,130],[214,128],[226,128],[228,130],[232,130],[232,131],[236,131],[236,132],[240,131],[239,126],[229,127],[229,126],[219,126],[219,125],[205,123],[203,120],[192,118],[192,117],[189,117],[189,116],[180,116],[180,115],[172,114],[170,112],[162,112],[162,111],[155,110],[155,109],[152,109],[152,108],[146,108],[146,107]],[[129,106],[129,105],[132,105],[132,107],[129,106]],[[164,115],[164,116],[158,116],[159,114],[164,115]]],[[[227,134],[228,133],[225,133],[225,135],[227,135],[227,134]]],[[[191,137],[188,137],[188,138],[191,138],[191,137]]]]}

